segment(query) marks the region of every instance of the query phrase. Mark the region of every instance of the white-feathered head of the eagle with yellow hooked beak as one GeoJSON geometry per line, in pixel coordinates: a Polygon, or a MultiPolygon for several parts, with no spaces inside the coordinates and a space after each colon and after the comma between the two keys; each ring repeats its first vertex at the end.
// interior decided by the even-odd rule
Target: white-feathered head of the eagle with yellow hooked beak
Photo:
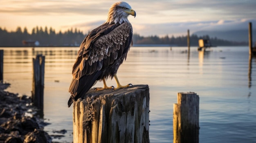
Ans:
{"type": "Polygon", "coordinates": [[[116,2],[114,3],[108,11],[108,19],[106,23],[123,23],[129,22],[128,15],[136,16],[136,12],[127,2],[116,2]]]}

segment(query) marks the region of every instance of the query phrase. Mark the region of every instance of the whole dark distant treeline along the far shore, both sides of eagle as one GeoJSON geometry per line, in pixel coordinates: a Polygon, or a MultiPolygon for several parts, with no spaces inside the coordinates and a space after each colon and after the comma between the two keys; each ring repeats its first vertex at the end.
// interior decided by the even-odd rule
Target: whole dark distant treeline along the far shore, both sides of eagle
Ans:
{"type": "MultiPolygon", "coordinates": [[[[27,46],[24,45],[24,41],[38,41],[40,46],[79,46],[83,41],[84,37],[87,35],[83,34],[82,31],[78,29],[68,29],[67,31],[55,32],[55,30],[47,26],[43,29],[42,27],[36,26],[32,29],[31,33],[27,31],[25,27],[23,30],[21,27],[17,27],[16,31],[8,32],[6,29],[0,27],[0,46],[27,46]],[[23,41],[23,43],[22,43],[23,41]]],[[[199,39],[208,39],[214,46],[241,46],[247,45],[247,42],[234,42],[228,40],[221,40],[217,37],[209,37],[208,35],[190,36],[191,46],[198,46],[199,39]]],[[[176,46],[186,46],[187,37],[164,37],[148,36],[143,37],[139,34],[133,35],[133,44],[165,44],[165,45],[176,45],[176,46]]]]}

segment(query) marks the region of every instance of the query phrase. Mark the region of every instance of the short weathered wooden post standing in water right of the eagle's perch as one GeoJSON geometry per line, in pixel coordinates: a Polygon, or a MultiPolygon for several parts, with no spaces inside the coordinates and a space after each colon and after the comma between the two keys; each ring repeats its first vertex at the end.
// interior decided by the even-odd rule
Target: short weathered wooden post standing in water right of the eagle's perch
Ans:
{"type": "Polygon", "coordinates": [[[179,92],[173,104],[173,143],[199,143],[199,96],[179,92]]]}

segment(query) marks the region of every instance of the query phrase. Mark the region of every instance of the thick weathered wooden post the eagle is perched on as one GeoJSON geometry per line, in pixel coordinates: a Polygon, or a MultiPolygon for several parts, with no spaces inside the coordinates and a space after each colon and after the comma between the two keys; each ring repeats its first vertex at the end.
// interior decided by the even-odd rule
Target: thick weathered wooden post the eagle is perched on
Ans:
{"type": "Polygon", "coordinates": [[[149,88],[89,90],[73,103],[74,143],[148,143],[149,88]]]}

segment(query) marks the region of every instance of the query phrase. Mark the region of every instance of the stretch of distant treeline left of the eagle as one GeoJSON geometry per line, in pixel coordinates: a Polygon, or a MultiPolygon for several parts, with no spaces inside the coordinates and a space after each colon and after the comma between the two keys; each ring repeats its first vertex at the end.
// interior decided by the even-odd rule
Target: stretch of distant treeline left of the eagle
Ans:
{"type": "Polygon", "coordinates": [[[48,29],[46,26],[43,29],[36,26],[31,33],[28,33],[26,27],[23,30],[21,27],[17,27],[14,32],[8,32],[0,27],[0,37],[0,46],[24,46],[23,40],[38,41],[40,46],[74,46],[74,44],[80,43],[85,35],[77,29],[68,29],[65,32],[57,33],[52,27],[48,29]]]}

